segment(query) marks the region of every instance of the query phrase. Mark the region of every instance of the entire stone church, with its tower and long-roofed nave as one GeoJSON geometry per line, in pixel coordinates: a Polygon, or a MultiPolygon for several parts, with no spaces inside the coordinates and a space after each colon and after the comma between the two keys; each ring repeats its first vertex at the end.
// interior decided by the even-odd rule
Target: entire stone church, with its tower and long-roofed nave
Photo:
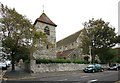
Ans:
{"type": "Polygon", "coordinates": [[[34,52],[35,58],[64,58],[64,59],[91,59],[89,55],[82,55],[80,35],[82,30],[56,42],[56,24],[43,12],[34,22],[35,28],[47,35],[47,40],[52,44],[42,44],[40,49],[34,52]]]}

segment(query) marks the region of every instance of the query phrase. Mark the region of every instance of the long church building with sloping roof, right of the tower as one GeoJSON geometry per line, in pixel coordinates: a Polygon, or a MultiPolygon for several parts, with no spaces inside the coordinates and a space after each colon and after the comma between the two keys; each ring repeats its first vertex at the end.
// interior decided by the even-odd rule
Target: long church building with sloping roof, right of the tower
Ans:
{"type": "Polygon", "coordinates": [[[79,59],[91,61],[90,55],[82,54],[82,41],[81,36],[83,35],[83,30],[80,30],[60,41],[57,42],[57,57],[64,59],[79,59]]]}

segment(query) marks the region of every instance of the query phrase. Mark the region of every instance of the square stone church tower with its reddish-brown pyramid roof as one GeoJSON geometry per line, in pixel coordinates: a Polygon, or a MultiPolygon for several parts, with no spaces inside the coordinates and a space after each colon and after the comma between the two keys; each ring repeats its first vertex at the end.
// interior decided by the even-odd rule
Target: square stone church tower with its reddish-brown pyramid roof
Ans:
{"type": "Polygon", "coordinates": [[[48,16],[43,12],[42,15],[36,19],[34,23],[37,30],[42,31],[47,36],[47,42],[44,44],[40,50],[37,50],[33,56],[35,58],[56,58],[56,30],[57,26],[53,23],[48,16]]]}

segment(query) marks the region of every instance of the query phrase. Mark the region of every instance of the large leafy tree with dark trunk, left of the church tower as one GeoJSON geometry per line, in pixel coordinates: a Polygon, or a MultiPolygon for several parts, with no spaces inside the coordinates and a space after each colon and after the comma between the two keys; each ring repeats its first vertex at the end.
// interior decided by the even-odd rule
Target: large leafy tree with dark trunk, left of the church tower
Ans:
{"type": "Polygon", "coordinates": [[[29,55],[29,58],[31,58],[35,50],[35,43],[39,39],[40,41],[45,41],[46,36],[42,32],[36,31],[30,20],[19,14],[14,8],[4,7],[1,4],[0,14],[2,46],[11,55],[12,71],[15,71],[14,63],[16,55],[24,51],[24,55],[29,55]]]}

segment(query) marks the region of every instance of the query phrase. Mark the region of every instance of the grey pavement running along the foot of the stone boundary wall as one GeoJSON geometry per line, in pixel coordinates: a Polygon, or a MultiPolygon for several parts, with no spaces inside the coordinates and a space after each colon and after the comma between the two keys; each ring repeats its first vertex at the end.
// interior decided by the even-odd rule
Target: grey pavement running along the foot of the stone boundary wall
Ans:
{"type": "Polygon", "coordinates": [[[43,72],[43,73],[28,73],[23,69],[16,67],[16,71],[12,72],[11,68],[9,68],[5,75],[5,80],[29,80],[32,78],[45,78],[51,76],[63,76],[63,75],[73,75],[78,74],[82,71],[59,71],[59,72],[43,72]]]}

